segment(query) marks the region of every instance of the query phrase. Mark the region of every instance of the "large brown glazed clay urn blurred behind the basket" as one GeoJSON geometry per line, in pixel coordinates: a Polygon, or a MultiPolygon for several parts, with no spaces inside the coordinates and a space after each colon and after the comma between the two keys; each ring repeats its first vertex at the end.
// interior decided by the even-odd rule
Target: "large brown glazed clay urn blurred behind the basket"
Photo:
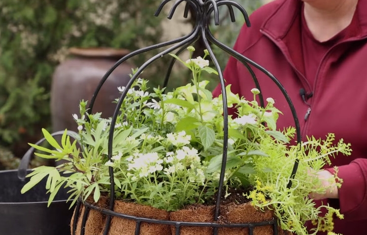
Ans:
{"type": "MultiPolygon", "coordinates": [[[[91,100],[92,95],[106,71],[118,59],[127,55],[125,49],[109,48],[71,48],[69,58],[57,66],[51,85],[51,118],[53,131],[77,131],[72,114],[80,116],[80,100],[91,100]]],[[[99,91],[93,113],[102,112],[102,117],[113,115],[120,97],[117,87],[125,86],[134,66],[124,62],[108,77],[99,91]]]]}

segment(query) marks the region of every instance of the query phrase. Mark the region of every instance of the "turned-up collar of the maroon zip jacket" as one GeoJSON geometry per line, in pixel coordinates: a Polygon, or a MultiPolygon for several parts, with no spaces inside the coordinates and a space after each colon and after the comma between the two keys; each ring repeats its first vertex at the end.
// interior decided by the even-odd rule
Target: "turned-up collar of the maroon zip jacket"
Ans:
{"type": "MultiPolygon", "coordinates": [[[[282,1],[277,9],[264,22],[261,30],[267,32],[275,40],[282,40],[288,33],[293,22],[300,14],[302,8],[301,0],[278,0],[282,1]]],[[[357,14],[360,32],[355,39],[367,36],[367,1],[359,0],[357,5],[357,14]]]]}

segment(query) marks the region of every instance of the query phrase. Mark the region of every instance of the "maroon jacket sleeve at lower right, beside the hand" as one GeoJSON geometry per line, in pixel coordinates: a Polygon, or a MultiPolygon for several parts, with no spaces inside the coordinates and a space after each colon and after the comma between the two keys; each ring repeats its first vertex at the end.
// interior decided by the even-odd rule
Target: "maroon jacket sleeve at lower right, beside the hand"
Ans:
{"type": "MultiPolygon", "coordinates": [[[[340,212],[353,220],[367,219],[367,159],[356,159],[338,167],[343,179],[339,188],[340,212]]],[[[334,173],[334,169],[326,169],[334,173]]]]}

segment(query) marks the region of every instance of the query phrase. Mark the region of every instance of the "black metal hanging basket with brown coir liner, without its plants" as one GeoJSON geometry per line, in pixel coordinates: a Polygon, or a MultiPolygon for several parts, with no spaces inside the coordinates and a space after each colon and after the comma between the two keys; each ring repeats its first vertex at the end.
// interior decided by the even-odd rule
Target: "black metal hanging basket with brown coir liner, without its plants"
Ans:
{"type": "MultiPolygon", "coordinates": [[[[160,14],[163,7],[170,2],[170,0],[165,0],[159,6],[156,16],[160,14]]],[[[177,6],[183,1],[177,1],[173,4],[172,9],[169,13],[168,18],[171,19],[175,9],[177,6]]],[[[179,55],[183,50],[185,50],[189,45],[192,45],[197,40],[202,40],[206,49],[209,52],[210,57],[212,58],[216,70],[219,74],[219,80],[222,85],[222,93],[225,94],[225,83],[221,68],[215,56],[211,50],[211,46],[209,42],[218,46],[220,49],[226,51],[231,56],[235,57],[237,60],[245,64],[248,71],[253,75],[253,80],[256,85],[256,88],[260,90],[259,83],[254,76],[254,73],[249,66],[252,65],[253,67],[259,69],[261,72],[267,74],[274,83],[276,83],[283,93],[285,99],[287,100],[289,107],[291,109],[293,118],[295,119],[296,131],[297,131],[297,141],[301,142],[301,135],[300,135],[300,127],[297,118],[297,114],[295,108],[293,107],[289,96],[285,92],[284,88],[280,85],[278,80],[275,79],[266,69],[261,67],[260,65],[254,63],[253,61],[247,59],[246,57],[242,56],[241,54],[235,52],[231,48],[223,45],[222,43],[218,42],[214,36],[211,34],[208,24],[210,22],[211,13],[214,12],[214,21],[215,24],[219,24],[219,17],[218,17],[218,6],[227,6],[230,11],[230,16],[232,21],[235,21],[235,16],[233,14],[233,7],[239,9],[243,14],[247,26],[250,26],[248,16],[246,11],[237,3],[232,1],[202,1],[202,0],[188,0],[186,2],[186,8],[184,17],[187,18],[189,7],[194,9],[196,13],[196,25],[193,31],[187,35],[175,40],[171,40],[168,42],[164,42],[158,45],[146,47],[143,49],[139,49],[134,51],[123,58],[121,58],[111,69],[109,69],[106,74],[102,77],[96,91],[91,99],[89,112],[91,112],[93,108],[94,101],[98,95],[98,91],[103,86],[104,82],[107,80],[108,76],[112,74],[112,72],[124,63],[126,60],[130,59],[131,57],[148,52],[153,49],[167,47],[170,45],[170,48],[164,50],[163,52],[157,54],[156,56],[152,57],[150,60],[143,63],[134,75],[131,77],[130,82],[126,85],[124,92],[122,93],[116,107],[116,111],[112,117],[111,121],[111,129],[109,132],[109,139],[112,140],[114,135],[114,127],[116,124],[116,119],[119,113],[119,109],[121,107],[122,101],[125,99],[127,95],[127,91],[131,88],[133,82],[138,79],[141,72],[151,65],[154,61],[158,60],[159,58],[172,53],[173,51],[177,51],[176,55],[179,55]]],[[[167,76],[164,81],[163,87],[166,87],[168,83],[168,79],[170,77],[171,69],[173,64],[175,63],[175,59],[172,59],[171,63],[168,65],[167,76]]],[[[264,106],[264,99],[262,94],[260,94],[261,105],[264,106]]],[[[227,160],[227,140],[228,140],[228,119],[227,119],[227,100],[224,96],[223,98],[224,103],[224,143],[223,143],[223,161],[222,161],[222,172],[221,177],[219,178],[219,185],[218,185],[218,198],[216,200],[216,204],[214,206],[197,206],[195,208],[189,207],[183,210],[179,210],[176,212],[171,212],[169,215],[161,213],[159,211],[155,211],[155,209],[146,209],[145,206],[141,206],[141,209],[136,209],[135,206],[132,207],[131,204],[129,206],[125,205],[125,203],[115,201],[115,192],[111,190],[111,196],[109,198],[108,205],[105,204],[105,200],[102,200],[100,204],[94,205],[90,202],[84,202],[82,205],[82,200],[79,200],[79,206],[81,206],[81,210],[76,210],[76,214],[74,217],[74,226],[72,226],[72,235],[107,235],[107,234],[141,234],[141,235],[151,235],[151,234],[194,234],[194,235],[206,235],[206,234],[248,234],[248,235],[271,235],[271,234],[285,234],[283,231],[278,228],[277,220],[274,218],[271,210],[266,210],[264,212],[259,211],[251,204],[243,204],[243,205],[234,205],[230,204],[227,206],[221,205],[220,196],[222,195],[223,189],[223,182],[224,182],[224,169],[227,160]],[[121,206],[123,204],[124,206],[121,206]],[[145,212],[145,213],[143,213],[145,212]],[[96,218],[98,221],[90,222],[91,218],[96,218]],[[76,226],[75,224],[78,223],[76,226]],[[163,225],[160,228],[157,228],[157,231],[153,231],[153,225],[160,224],[163,225]],[[94,228],[94,226],[98,226],[98,229],[94,228]],[[103,227],[99,227],[103,226],[103,227]],[[92,231],[89,231],[89,229],[92,231]],[[84,230],[85,229],[85,230],[84,230]],[[163,232],[163,233],[160,233],[163,232]]],[[[112,141],[108,142],[108,158],[111,160],[112,158],[112,141]]],[[[292,172],[289,172],[291,175],[288,187],[291,186],[291,179],[295,176],[297,172],[298,161],[295,162],[292,172]]],[[[110,171],[110,178],[111,178],[111,189],[114,189],[114,181],[113,181],[113,172],[110,171]]],[[[77,206],[78,208],[78,206],[77,206]]],[[[155,227],[155,226],[154,226],[155,227]]]]}

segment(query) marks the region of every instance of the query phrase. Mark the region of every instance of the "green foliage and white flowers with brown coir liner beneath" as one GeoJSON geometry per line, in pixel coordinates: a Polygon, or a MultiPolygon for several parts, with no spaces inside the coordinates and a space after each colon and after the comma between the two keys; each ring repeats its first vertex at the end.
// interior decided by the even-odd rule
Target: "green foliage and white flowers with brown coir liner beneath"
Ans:
{"type": "MultiPolygon", "coordinates": [[[[195,49],[189,47],[188,50],[192,55],[195,49]]],[[[208,66],[209,53],[204,52],[203,58],[187,61],[172,54],[193,75],[191,84],[172,92],[165,93],[164,88],[150,92],[146,80],[135,80],[122,101],[116,123],[111,118],[101,118],[100,113],[88,113],[87,102],[81,101],[80,115],[74,114],[79,130],[76,140],[72,141],[65,131],[59,144],[43,130],[52,147],[31,146],[42,151],[36,153],[42,158],[62,160],[62,164],[35,168],[28,175],[30,181],[22,192],[48,177],[49,204],[57,191],[66,187],[72,204],[80,199],[107,209],[112,171],[114,211],[126,215],[157,221],[219,224],[256,223],[261,222],[259,218],[277,218],[282,230],[296,234],[309,234],[304,223],[312,220],[313,233],[331,232],[333,216],[342,218],[339,210],[327,205],[316,207],[308,195],[326,190],[315,174],[334,154],[349,155],[349,144],[342,140],[334,143],[334,135],[329,134],[324,140],[310,137],[299,145],[293,140],[295,128],[277,130],[281,112],[272,98],[267,98],[267,104],[262,107],[256,101],[258,89],[252,89],[253,99],[247,100],[233,94],[230,86],[226,88],[227,105],[237,110],[237,116],[228,117],[227,138],[223,131],[222,97],[212,97],[205,88],[208,82],[201,81],[202,73],[217,73],[208,66]],[[109,160],[111,129],[113,156],[109,160]],[[219,219],[214,221],[212,205],[218,192],[224,141],[228,141],[221,195],[225,203],[221,205],[219,219]],[[287,187],[295,161],[299,161],[297,175],[292,186],[287,187]],[[327,210],[324,216],[320,215],[322,208],[327,210]]],[[[118,89],[124,92],[126,88],[118,89]]],[[[82,214],[84,210],[82,207],[82,214]]],[[[76,211],[75,216],[79,213],[76,211]]],[[[103,213],[90,210],[85,226],[80,217],[77,234],[82,230],[85,234],[102,234],[105,220],[103,213]]],[[[135,228],[135,221],[113,217],[108,234],[135,234],[135,228]]],[[[141,222],[139,229],[140,234],[178,234],[177,228],[173,222],[141,222]]],[[[195,234],[213,232],[213,228],[207,226],[181,226],[179,232],[193,234],[193,229],[199,229],[195,234]]],[[[250,234],[248,229],[253,229],[253,234],[273,234],[274,228],[269,225],[223,226],[217,232],[250,234]]]]}

